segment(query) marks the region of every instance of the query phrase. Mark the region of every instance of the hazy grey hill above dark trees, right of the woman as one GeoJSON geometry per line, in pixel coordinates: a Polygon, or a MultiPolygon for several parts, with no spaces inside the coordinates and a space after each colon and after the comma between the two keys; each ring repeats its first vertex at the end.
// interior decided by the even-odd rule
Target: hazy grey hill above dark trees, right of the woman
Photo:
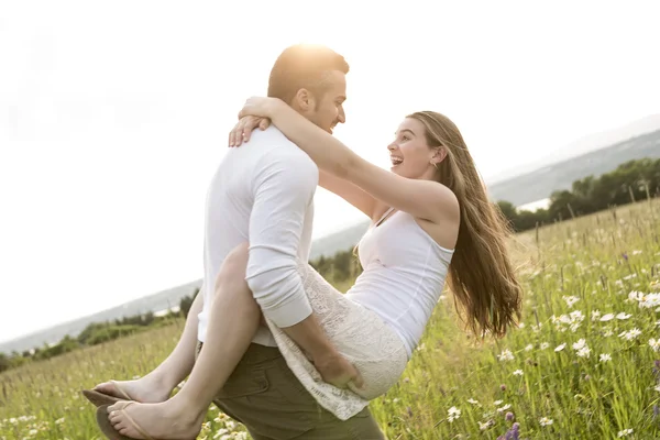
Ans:
{"type": "Polygon", "coordinates": [[[488,193],[493,200],[520,206],[547,198],[552,191],[570,189],[573,182],[586,176],[600,176],[624,162],[644,157],[660,157],[660,130],[488,185],[488,193]]]}

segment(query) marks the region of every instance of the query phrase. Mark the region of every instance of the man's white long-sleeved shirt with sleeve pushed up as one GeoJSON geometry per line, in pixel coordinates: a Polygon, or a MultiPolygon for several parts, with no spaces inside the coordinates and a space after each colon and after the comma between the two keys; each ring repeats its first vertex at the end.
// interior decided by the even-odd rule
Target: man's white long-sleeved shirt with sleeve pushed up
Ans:
{"type": "MultiPolygon", "coordinates": [[[[245,279],[264,316],[278,327],[289,327],[311,314],[296,260],[309,257],[318,178],[314,161],[273,125],[255,130],[250,142],[229,148],[206,201],[201,342],[218,272],[243,242],[250,243],[245,279]]],[[[264,327],[253,342],[276,346],[264,327]]]]}

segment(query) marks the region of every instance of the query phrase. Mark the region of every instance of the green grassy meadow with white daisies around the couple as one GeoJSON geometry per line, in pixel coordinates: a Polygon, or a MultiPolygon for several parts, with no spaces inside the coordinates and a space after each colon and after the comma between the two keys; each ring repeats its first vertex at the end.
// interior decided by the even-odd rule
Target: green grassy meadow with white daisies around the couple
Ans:
{"type": "MultiPolygon", "coordinates": [[[[522,324],[497,342],[468,338],[443,296],[399,384],[371,405],[388,438],[660,438],[659,218],[640,202],[518,235],[522,324]]],[[[0,439],[101,438],[79,389],[146,373],[182,327],[0,375],[0,439]]],[[[249,437],[210,409],[199,438],[249,437]]]]}

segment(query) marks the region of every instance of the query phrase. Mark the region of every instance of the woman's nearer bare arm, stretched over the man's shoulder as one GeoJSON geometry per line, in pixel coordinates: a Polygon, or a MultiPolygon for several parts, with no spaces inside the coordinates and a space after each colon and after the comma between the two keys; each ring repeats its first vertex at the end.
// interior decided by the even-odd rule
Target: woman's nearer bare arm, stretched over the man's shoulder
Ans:
{"type": "Polygon", "coordinates": [[[458,216],[455,196],[446,186],[402,177],[369,163],[279,99],[251,98],[240,113],[270,118],[319,168],[349,180],[387,206],[433,223],[448,215],[458,216]]]}

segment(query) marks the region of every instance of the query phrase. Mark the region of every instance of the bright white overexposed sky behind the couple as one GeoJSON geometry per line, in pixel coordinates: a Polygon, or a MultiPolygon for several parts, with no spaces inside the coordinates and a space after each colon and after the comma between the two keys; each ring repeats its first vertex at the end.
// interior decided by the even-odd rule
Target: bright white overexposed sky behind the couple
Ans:
{"type": "MultiPolygon", "coordinates": [[[[359,154],[437,110],[487,180],[658,112],[653,3],[4,2],[0,340],[201,277],[207,185],[287,45],[351,64],[359,154]]],[[[319,190],[315,237],[359,219],[319,190]]]]}

